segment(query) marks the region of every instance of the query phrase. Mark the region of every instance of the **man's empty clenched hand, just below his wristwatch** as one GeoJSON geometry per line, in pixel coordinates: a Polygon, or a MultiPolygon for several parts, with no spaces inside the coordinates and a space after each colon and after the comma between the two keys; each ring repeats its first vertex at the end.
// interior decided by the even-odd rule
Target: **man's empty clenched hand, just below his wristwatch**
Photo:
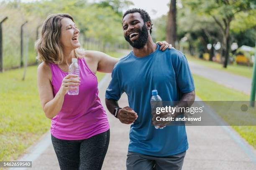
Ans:
{"type": "Polygon", "coordinates": [[[138,115],[131,107],[123,107],[118,110],[118,119],[124,124],[131,124],[138,118],[138,115]]]}

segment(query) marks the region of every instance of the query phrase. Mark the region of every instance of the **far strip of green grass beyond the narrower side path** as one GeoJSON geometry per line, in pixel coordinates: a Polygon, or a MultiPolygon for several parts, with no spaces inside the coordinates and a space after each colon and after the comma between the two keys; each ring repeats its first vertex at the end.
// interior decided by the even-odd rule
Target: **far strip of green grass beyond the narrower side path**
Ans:
{"type": "Polygon", "coordinates": [[[196,62],[196,63],[198,63],[200,65],[204,65],[206,67],[211,67],[211,68],[215,68],[215,69],[218,69],[218,70],[231,72],[233,74],[241,75],[241,76],[244,76],[244,77],[249,77],[249,78],[252,77],[253,67],[248,67],[248,66],[244,66],[244,65],[237,65],[236,63],[234,63],[233,65],[228,65],[227,68],[223,68],[223,65],[219,64],[217,62],[201,60],[199,58],[192,57],[191,55],[186,55],[186,57],[187,57],[187,60],[196,62]]]}

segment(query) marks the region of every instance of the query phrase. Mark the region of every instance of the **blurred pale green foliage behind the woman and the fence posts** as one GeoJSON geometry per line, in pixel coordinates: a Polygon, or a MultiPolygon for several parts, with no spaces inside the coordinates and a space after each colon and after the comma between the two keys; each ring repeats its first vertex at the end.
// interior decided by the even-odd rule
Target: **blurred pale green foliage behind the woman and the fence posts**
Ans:
{"type": "MultiPolygon", "coordinates": [[[[51,13],[69,13],[72,15],[80,30],[80,41],[82,41],[81,37],[84,37],[87,40],[97,41],[98,46],[116,47],[126,44],[121,25],[121,9],[132,4],[128,0],[104,0],[100,2],[103,5],[88,2],[88,0],[40,0],[29,3],[9,0],[1,3],[0,20],[8,16],[8,20],[3,24],[4,68],[19,66],[20,26],[26,20],[28,23],[24,26],[24,37],[29,38],[28,62],[30,64],[35,62],[34,42],[36,41],[37,28],[51,13]],[[104,5],[104,3],[108,3],[108,5],[104,5]]],[[[24,59],[25,42],[26,39],[23,40],[24,59]]]]}

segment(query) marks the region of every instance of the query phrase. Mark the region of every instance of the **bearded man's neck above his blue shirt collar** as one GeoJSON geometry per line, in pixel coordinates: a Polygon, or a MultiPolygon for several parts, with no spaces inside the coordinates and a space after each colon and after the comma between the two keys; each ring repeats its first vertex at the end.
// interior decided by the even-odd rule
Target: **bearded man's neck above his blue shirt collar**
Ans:
{"type": "Polygon", "coordinates": [[[144,47],[140,49],[133,47],[133,54],[136,57],[145,57],[154,52],[156,48],[157,45],[153,42],[152,38],[148,36],[148,41],[146,42],[146,45],[144,45],[144,47]]]}

